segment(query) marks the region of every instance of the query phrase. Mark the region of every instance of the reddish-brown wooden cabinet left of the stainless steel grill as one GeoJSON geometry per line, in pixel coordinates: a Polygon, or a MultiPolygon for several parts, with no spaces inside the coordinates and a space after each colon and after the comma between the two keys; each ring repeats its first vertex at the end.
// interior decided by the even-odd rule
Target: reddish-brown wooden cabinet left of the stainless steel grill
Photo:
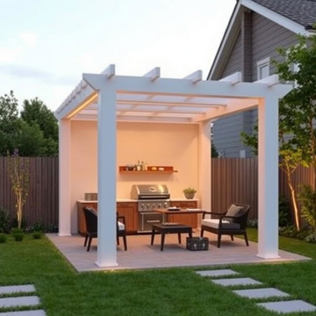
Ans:
{"type": "MultiPolygon", "coordinates": [[[[98,210],[97,202],[77,202],[78,207],[78,232],[84,234],[86,231],[83,207],[93,207],[98,210]]],[[[117,212],[120,216],[125,216],[126,232],[132,233],[138,230],[138,211],[136,202],[118,202],[117,212]]]]}

